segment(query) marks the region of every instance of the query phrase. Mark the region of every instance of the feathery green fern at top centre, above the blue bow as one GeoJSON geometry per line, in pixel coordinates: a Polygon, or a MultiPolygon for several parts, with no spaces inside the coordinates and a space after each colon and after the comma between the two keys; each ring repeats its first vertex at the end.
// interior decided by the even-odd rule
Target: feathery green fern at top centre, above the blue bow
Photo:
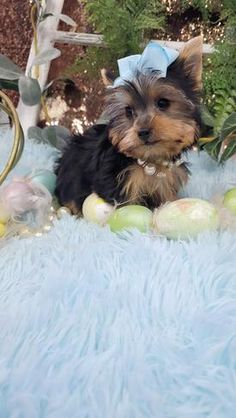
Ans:
{"type": "Polygon", "coordinates": [[[164,6],[159,0],[84,0],[89,22],[104,36],[107,48],[87,49],[74,70],[97,74],[104,65],[114,68],[117,59],[137,53],[153,29],[163,29],[164,6]]]}

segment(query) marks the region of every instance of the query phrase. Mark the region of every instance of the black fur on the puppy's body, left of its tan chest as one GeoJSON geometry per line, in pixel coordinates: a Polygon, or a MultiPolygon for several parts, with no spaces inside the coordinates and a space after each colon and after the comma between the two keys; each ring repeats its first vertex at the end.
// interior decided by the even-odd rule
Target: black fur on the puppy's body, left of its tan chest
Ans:
{"type": "Polygon", "coordinates": [[[75,202],[82,207],[96,192],[108,203],[123,201],[118,174],[132,161],[117,152],[108,139],[107,125],[94,125],[75,136],[57,163],[56,196],[61,204],[75,202]]]}

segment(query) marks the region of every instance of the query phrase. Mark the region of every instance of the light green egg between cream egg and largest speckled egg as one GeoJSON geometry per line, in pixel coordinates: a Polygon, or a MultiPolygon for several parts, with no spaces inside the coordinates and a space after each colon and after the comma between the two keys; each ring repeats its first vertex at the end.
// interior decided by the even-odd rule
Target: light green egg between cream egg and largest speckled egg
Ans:
{"type": "Polygon", "coordinates": [[[137,228],[147,232],[152,223],[152,212],[140,205],[123,206],[116,209],[108,219],[108,225],[113,232],[137,228]]]}

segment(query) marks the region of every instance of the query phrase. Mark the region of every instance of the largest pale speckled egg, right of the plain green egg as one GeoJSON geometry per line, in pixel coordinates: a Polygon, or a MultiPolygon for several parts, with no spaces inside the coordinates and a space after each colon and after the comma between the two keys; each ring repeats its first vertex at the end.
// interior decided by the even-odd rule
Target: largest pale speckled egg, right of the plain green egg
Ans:
{"type": "Polygon", "coordinates": [[[219,226],[216,208],[201,199],[179,199],[156,209],[153,227],[167,238],[186,239],[200,232],[213,231],[219,226]]]}

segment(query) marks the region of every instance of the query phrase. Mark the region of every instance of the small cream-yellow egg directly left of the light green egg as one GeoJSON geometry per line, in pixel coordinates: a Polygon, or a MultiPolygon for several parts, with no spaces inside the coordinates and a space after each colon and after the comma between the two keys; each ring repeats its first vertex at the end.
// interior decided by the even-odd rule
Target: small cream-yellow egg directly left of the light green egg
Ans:
{"type": "Polygon", "coordinates": [[[106,203],[96,193],[90,194],[82,206],[82,214],[87,221],[104,225],[113,212],[114,207],[106,203]]]}

